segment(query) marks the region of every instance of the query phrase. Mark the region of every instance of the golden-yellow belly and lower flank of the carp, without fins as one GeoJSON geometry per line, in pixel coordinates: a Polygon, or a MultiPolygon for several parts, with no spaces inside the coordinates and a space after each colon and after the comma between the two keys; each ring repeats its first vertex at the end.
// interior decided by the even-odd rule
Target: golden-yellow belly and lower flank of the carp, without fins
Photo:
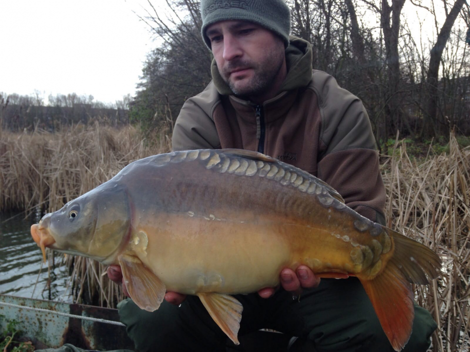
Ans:
{"type": "Polygon", "coordinates": [[[350,243],[280,220],[165,214],[139,226],[148,244],[137,255],[167,291],[184,294],[255,292],[276,286],[283,268],[300,264],[316,273],[352,268],[350,243]]]}

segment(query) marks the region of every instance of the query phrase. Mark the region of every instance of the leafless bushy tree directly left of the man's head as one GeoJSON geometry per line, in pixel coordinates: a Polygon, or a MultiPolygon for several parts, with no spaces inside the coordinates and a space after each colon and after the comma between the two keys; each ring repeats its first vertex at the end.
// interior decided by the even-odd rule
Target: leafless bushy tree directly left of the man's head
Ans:
{"type": "Polygon", "coordinates": [[[200,35],[199,1],[167,0],[166,12],[148,4],[139,17],[163,42],[148,55],[130,116],[151,132],[171,126],[184,101],[210,82],[212,57],[200,35]]]}

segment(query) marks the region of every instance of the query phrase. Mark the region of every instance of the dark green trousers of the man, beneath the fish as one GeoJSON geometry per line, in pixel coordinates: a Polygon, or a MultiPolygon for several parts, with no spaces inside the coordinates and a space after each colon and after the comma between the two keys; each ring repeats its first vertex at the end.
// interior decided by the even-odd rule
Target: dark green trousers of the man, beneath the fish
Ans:
{"type": "MultiPolygon", "coordinates": [[[[297,337],[289,351],[393,352],[356,278],[322,279],[316,289],[304,290],[295,300],[282,290],[269,299],[257,294],[234,297],[243,305],[238,351],[243,351],[244,335],[273,329],[297,337]]],[[[163,302],[153,313],[140,310],[131,300],[119,303],[118,309],[140,352],[223,352],[233,346],[194,296],[188,296],[180,307],[163,302]]],[[[413,331],[403,352],[425,352],[437,327],[426,310],[415,305],[414,314],[413,331]]]]}

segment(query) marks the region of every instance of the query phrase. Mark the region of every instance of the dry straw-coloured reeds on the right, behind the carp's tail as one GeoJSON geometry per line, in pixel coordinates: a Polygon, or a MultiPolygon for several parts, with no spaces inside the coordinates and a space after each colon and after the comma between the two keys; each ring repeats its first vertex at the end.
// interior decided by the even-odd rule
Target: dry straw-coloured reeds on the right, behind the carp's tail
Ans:
{"type": "Polygon", "coordinates": [[[431,351],[469,351],[470,148],[450,135],[449,153],[411,160],[406,145],[383,168],[387,226],[435,250],[442,274],[415,287],[418,304],[431,312],[438,328],[431,351]]]}

